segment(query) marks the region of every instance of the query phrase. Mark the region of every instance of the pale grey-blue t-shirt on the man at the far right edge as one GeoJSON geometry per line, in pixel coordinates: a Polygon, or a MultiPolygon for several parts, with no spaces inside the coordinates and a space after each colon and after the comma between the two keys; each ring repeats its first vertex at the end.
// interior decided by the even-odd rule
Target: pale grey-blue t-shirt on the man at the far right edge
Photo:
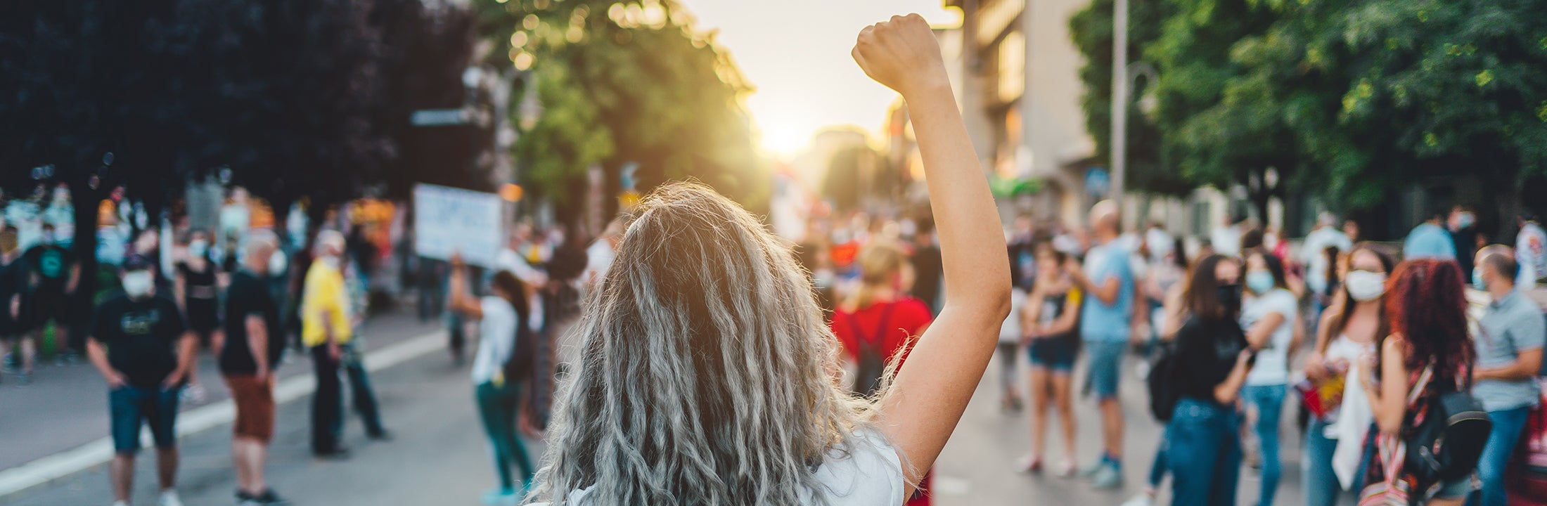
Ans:
{"type": "MultiPolygon", "coordinates": [[[[1521,351],[1541,350],[1547,340],[1547,319],[1530,297],[1513,291],[1504,300],[1488,303],[1482,314],[1482,334],[1473,339],[1477,347],[1477,367],[1501,367],[1515,362],[1521,351]]],[[[1541,388],[1535,378],[1479,381],[1471,395],[1482,401],[1488,412],[1513,410],[1536,405],[1541,388]]]]}

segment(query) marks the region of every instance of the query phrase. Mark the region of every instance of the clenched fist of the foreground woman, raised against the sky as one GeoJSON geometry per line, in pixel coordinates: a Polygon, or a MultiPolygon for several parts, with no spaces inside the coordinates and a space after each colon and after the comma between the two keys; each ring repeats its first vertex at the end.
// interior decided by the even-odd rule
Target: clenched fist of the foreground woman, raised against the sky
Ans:
{"type": "Polygon", "coordinates": [[[919,14],[893,15],[891,20],[866,26],[854,43],[854,62],[866,76],[897,90],[903,97],[931,88],[948,87],[941,45],[930,23],[919,14]]]}

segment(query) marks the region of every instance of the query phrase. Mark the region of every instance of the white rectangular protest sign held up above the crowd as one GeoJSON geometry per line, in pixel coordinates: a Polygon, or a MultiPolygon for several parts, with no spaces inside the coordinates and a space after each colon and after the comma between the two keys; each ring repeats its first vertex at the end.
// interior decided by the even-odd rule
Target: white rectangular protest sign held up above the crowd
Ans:
{"type": "Polygon", "coordinates": [[[495,193],[435,184],[413,187],[413,249],[418,255],[450,260],[459,252],[476,266],[493,266],[504,240],[504,201],[495,193]]]}

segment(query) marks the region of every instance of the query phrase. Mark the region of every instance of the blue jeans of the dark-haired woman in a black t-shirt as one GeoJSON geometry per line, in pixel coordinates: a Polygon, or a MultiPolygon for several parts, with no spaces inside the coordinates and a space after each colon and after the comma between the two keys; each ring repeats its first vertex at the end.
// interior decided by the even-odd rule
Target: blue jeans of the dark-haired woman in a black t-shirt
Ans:
{"type": "Polygon", "coordinates": [[[1214,402],[1183,398],[1165,427],[1171,501],[1188,506],[1236,503],[1241,478],[1241,415],[1214,402]]]}

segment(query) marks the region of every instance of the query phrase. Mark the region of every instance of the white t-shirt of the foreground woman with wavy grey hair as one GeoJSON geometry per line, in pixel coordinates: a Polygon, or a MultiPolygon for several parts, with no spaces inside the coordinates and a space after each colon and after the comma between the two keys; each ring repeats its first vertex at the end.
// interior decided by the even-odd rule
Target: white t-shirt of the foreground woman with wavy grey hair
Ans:
{"type": "MultiPolygon", "coordinates": [[[[869,430],[855,432],[849,439],[852,447],[848,452],[828,450],[828,460],[817,469],[817,483],[820,483],[828,503],[832,506],[902,504],[905,487],[897,449],[869,430]]],[[[569,492],[569,503],[585,504],[580,500],[589,492],[589,489],[569,492]]],[[[815,491],[801,494],[800,503],[815,504],[815,491]]],[[[537,503],[534,506],[546,504],[537,503]]]]}

